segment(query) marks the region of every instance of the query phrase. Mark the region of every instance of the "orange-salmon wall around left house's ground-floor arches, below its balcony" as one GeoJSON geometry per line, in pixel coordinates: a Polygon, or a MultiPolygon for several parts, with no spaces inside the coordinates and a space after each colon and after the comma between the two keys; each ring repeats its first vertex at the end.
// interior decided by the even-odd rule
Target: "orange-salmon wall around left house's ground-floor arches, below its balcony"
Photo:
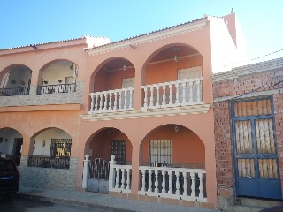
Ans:
{"type": "MultiPolygon", "coordinates": [[[[42,106],[42,110],[45,106],[42,106]]],[[[32,155],[35,134],[50,127],[59,128],[72,137],[72,157],[77,157],[80,136],[80,110],[26,111],[0,113],[0,129],[11,127],[23,136],[22,155],[32,155]],[[20,121],[19,121],[20,120],[20,121]]]]}

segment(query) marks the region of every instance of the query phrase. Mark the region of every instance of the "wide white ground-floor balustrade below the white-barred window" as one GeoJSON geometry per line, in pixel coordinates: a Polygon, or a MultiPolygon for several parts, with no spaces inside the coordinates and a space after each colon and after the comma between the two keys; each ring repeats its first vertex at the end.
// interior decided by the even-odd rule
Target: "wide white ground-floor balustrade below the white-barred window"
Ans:
{"type": "Polygon", "coordinates": [[[206,171],[201,169],[140,166],[139,194],[206,202],[206,171]]]}

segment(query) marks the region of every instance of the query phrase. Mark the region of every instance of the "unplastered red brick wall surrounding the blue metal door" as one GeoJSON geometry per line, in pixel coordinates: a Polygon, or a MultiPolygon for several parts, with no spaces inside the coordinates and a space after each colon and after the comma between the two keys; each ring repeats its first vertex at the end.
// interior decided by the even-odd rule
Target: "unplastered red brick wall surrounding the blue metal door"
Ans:
{"type": "MultiPolygon", "coordinates": [[[[233,140],[230,125],[229,99],[272,95],[280,178],[283,179],[283,82],[280,82],[281,80],[283,80],[283,71],[247,74],[234,79],[221,79],[221,81],[215,80],[213,82],[216,174],[218,204],[220,205],[227,204],[223,202],[223,198],[226,198],[229,204],[235,203],[233,199],[233,140]]],[[[283,187],[282,180],[281,185],[283,187]]]]}

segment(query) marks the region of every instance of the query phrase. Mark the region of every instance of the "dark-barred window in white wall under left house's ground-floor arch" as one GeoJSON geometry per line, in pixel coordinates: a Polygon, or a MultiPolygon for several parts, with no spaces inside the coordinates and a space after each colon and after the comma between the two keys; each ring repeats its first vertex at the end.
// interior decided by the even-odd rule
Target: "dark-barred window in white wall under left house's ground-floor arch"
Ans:
{"type": "Polygon", "coordinates": [[[72,139],[51,139],[50,157],[70,157],[72,139]]]}

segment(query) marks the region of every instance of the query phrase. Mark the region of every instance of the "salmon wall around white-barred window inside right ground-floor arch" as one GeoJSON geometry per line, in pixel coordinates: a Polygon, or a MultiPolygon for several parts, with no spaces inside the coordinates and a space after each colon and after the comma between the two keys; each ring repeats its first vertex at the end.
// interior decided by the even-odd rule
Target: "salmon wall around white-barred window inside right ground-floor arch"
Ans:
{"type": "MultiPolygon", "coordinates": [[[[173,163],[205,163],[203,141],[192,131],[180,126],[174,131],[175,125],[163,126],[152,132],[143,140],[143,162],[149,162],[149,140],[172,140],[173,163]]],[[[181,164],[175,164],[180,166],[181,164]]],[[[186,165],[186,164],[185,164],[186,165]]]]}

